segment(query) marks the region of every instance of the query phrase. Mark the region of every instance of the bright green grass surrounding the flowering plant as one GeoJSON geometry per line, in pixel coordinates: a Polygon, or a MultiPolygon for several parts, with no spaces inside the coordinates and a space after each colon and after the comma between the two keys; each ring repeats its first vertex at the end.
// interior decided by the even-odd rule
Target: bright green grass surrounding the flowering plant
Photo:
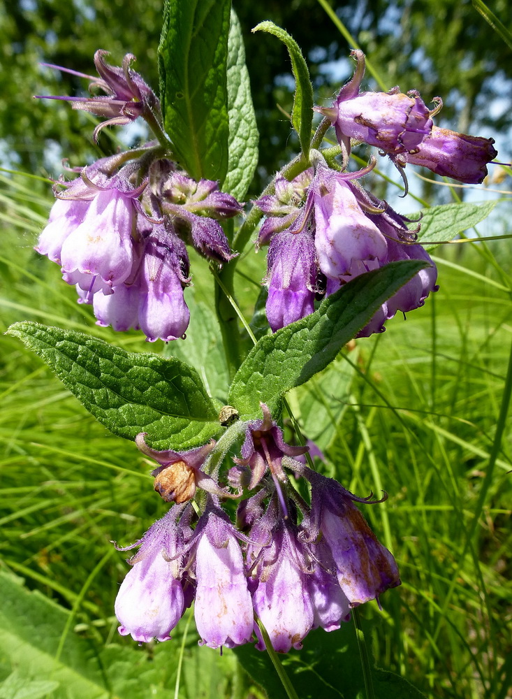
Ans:
{"type": "MultiPolygon", "coordinates": [[[[254,682],[233,652],[197,647],[189,612],[164,644],[138,648],[117,635],[113,601],[127,565],[111,541],[140,538],[166,505],[135,445],[107,433],[40,359],[3,333],[28,319],[131,351],[163,345],[94,324],[57,265],[32,250],[50,197],[27,178],[2,181],[0,697],[265,696],[258,686],[265,682],[254,682]]],[[[389,493],[383,505],[362,506],[403,581],[383,596],[382,612],[374,603],[360,607],[376,664],[432,699],[505,699],[512,696],[511,428],[502,405],[512,342],[509,241],[441,246],[436,254],[441,289],[425,307],[345,350],[290,405],[326,452],[318,464],[324,473],[361,496],[389,493]]],[[[263,265],[264,253],[251,252],[240,266],[246,317],[263,265]]],[[[211,305],[207,267],[193,259],[193,271],[195,300],[211,305]]],[[[310,696],[301,693],[301,658],[312,657],[315,644],[340,655],[337,684],[328,688],[319,677],[312,696],[356,697],[342,654],[349,626],[317,631],[305,644],[309,655],[290,654],[286,670],[301,699],[310,696]]]]}

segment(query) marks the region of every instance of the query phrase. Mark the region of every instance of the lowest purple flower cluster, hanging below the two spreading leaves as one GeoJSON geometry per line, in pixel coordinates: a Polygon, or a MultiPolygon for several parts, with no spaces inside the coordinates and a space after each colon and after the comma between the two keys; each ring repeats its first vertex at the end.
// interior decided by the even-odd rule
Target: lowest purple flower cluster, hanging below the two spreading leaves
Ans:
{"type": "Polygon", "coordinates": [[[299,649],[313,628],[339,629],[352,607],[400,585],[395,559],[354,505],[381,500],[358,498],[295,459],[307,447],[287,445],[261,407],[263,419],[244,425],[240,458],[228,477],[231,485],[255,491],[240,501],[237,527],[220,505],[219,496],[228,493],[203,470],[212,444],[181,454],[154,452],[139,435],[140,449],[161,464],[153,472],[155,489],[176,504],[126,547],[139,550],[115,603],[119,633],[168,640],[195,600],[202,644],[233,647],[255,634],[256,647],[265,649],[256,614],[275,650],[287,652],[299,649]],[[287,472],[307,480],[309,505],[287,472]],[[194,521],[187,501],[196,485],[208,495],[194,521]]]}

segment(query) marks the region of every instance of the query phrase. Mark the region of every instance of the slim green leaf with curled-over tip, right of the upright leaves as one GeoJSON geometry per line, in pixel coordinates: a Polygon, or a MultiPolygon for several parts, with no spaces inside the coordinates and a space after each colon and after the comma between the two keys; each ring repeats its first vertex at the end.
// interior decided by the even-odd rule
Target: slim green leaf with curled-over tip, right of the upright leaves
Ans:
{"type": "Polygon", "coordinates": [[[293,110],[291,122],[297,131],[300,147],[304,157],[309,157],[309,144],[311,143],[311,127],[313,122],[313,86],[309,80],[309,70],[298,43],[287,31],[277,27],[274,22],[260,22],[252,31],[268,31],[277,36],[290,54],[293,77],[295,78],[295,95],[293,97],[293,110]]]}

